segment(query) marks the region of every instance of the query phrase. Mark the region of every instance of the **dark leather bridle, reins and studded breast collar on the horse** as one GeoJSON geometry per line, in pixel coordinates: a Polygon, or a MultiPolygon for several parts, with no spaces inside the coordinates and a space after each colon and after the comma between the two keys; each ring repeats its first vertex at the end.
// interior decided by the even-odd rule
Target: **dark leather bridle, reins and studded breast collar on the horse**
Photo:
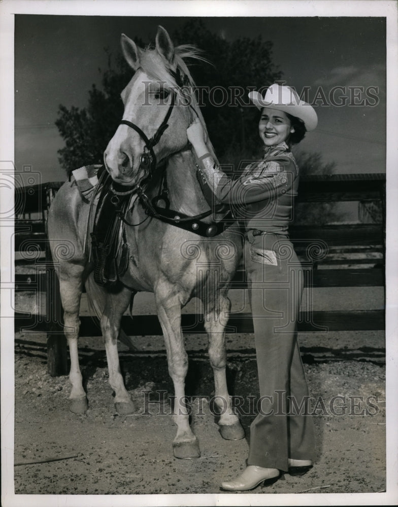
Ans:
{"type": "MultiPolygon", "coordinates": [[[[183,79],[181,74],[171,72],[173,77],[175,78],[177,84],[179,86],[183,86],[186,84],[186,79],[183,79]]],[[[143,130],[136,125],[135,123],[132,123],[128,120],[121,120],[121,125],[127,125],[128,127],[135,130],[140,137],[145,142],[144,146],[144,152],[140,156],[140,168],[147,169],[148,175],[137,185],[133,187],[127,187],[123,185],[119,185],[115,182],[112,182],[110,191],[112,194],[114,194],[114,197],[112,198],[113,203],[115,206],[118,206],[119,204],[119,198],[118,196],[122,197],[121,200],[123,200],[123,197],[136,193],[140,199],[141,205],[145,209],[145,212],[147,215],[152,216],[153,218],[156,218],[162,222],[165,222],[167,224],[174,225],[176,227],[179,227],[181,229],[185,229],[187,231],[194,232],[195,234],[198,234],[200,236],[205,237],[213,237],[217,234],[220,234],[224,231],[224,223],[228,216],[231,217],[230,211],[227,212],[227,214],[223,217],[223,219],[219,222],[212,222],[212,223],[204,223],[202,222],[202,219],[207,218],[210,216],[213,212],[222,212],[225,211],[225,205],[219,204],[214,206],[213,203],[213,196],[209,197],[207,193],[205,193],[205,198],[207,203],[210,206],[210,209],[208,211],[204,211],[203,213],[199,213],[197,215],[189,216],[184,213],[180,213],[178,211],[174,211],[170,209],[170,202],[167,197],[168,194],[168,188],[167,188],[167,181],[165,178],[165,174],[162,176],[160,188],[159,188],[159,194],[154,197],[153,199],[150,199],[148,195],[145,193],[145,189],[147,186],[148,181],[152,178],[153,173],[156,169],[157,161],[156,161],[156,155],[153,151],[153,147],[156,146],[156,144],[159,142],[161,136],[163,135],[163,132],[165,129],[169,127],[168,121],[170,119],[170,116],[172,114],[173,108],[175,105],[175,91],[172,90],[172,98],[171,103],[169,105],[168,112],[166,116],[164,117],[162,123],[160,124],[159,128],[156,130],[155,134],[148,139],[147,135],[143,132],[143,130]],[[158,206],[159,201],[163,201],[165,203],[165,207],[158,206]]],[[[190,105],[190,107],[192,107],[190,105]]],[[[192,110],[196,113],[196,111],[192,110]]],[[[197,164],[196,164],[197,165],[197,164]]],[[[121,211],[121,210],[120,210],[121,211]]],[[[125,215],[125,213],[123,213],[125,215]]],[[[125,220],[125,217],[122,216],[122,221],[129,226],[138,226],[140,224],[130,224],[125,220]]]]}

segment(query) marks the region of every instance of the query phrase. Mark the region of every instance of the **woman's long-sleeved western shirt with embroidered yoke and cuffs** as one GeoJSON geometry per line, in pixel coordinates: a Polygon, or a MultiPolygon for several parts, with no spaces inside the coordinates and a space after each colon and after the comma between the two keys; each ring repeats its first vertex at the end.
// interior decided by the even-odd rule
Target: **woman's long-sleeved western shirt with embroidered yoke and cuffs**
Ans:
{"type": "Polygon", "coordinates": [[[285,142],[266,150],[238,179],[226,175],[210,153],[200,159],[198,177],[228,204],[245,229],[287,235],[298,188],[298,167],[285,142]]]}

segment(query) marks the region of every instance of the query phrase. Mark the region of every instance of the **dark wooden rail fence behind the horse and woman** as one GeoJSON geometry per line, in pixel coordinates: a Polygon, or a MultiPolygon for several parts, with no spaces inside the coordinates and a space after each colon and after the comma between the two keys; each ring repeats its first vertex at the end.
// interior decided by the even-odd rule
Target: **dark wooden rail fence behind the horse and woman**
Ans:
{"type": "MultiPolygon", "coordinates": [[[[47,209],[62,183],[46,183],[24,187],[15,191],[15,251],[22,259],[16,263],[35,265],[35,273],[16,274],[16,291],[46,293],[46,308],[43,314],[15,314],[15,330],[41,331],[47,333],[48,371],[50,375],[67,373],[67,348],[59,322],[61,305],[58,282],[51,260],[45,219],[47,209]],[[36,215],[36,217],[32,217],[36,215]]],[[[316,202],[358,201],[381,204],[380,224],[339,224],[329,226],[300,226],[290,228],[290,238],[299,255],[305,255],[311,245],[325,245],[326,249],[349,249],[352,252],[379,252],[379,259],[343,260],[327,262],[312,258],[305,263],[307,284],[312,287],[376,287],[385,286],[385,175],[384,174],[333,174],[329,176],[307,176],[301,179],[298,203],[311,206],[316,202]],[[315,241],[315,243],[314,243],[315,241]],[[345,269],[343,264],[349,266],[345,269]],[[352,267],[352,265],[355,265],[352,267]],[[361,266],[364,267],[361,267],[361,266]]],[[[309,208],[310,209],[310,208],[309,208]]],[[[318,245],[318,246],[316,246],[318,245]]],[[[321,247],[320,247],[321,249],[321,247]]],[[[366,257],[366,256],[365,256],[366,257]]],[[[245,273],[241,267],[233,282],[233,288],[246,286],[245,273]]],[[[384,310],[312,311],[310,318],[302,314],[298,331],[383,330],[384,310]]],[[[134,323],[123,316],[122,327],[127,335],[160,335],[161,328],[153,315],[137,315],[134,323]]],[[[203,322],[196,314],[182,316],[184,333],[204,332],[203,322]]],[[[227,332],[252,333],[253,323],[248,313],[232,313],[227,332]]],[[[100,328],[93,326],[92,317],[81,316],[80,336],[100,335],[100,328]]]]}

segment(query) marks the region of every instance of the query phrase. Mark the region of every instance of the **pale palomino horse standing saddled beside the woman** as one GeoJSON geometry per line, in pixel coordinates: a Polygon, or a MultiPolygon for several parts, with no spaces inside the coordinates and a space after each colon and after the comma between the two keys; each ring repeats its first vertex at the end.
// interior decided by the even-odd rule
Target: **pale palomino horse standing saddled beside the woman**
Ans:
{"type": "MultiPolygon", "coordinates": [[[[132,199],[123,219],[123,234],[129,250],[128,266],[120,276],[117,290],[109,291],[97,285],[92,273],[88,274],[92,265],[86,244],[86,237],[89,239],[87,224],[90,207],[95,207],[95,202],[90,204],[83,199],[73,181],[66,182],[58,191],[48,218],[51,245],[57,242],[74,245],[73,256],[57,259],[64,331],[71,357],[70,409],[75,413],[84,413],[87,409],[78,358],[79,304],[83,284],[101,317],[109,383],[115,391],[119,413],[134,411],[119,366],[117,339],[121,339],[121,317],[128,307],[131,293],[153,292],[175,389],[173,417],[177,435],[173,443],[174,455],[178,458],[197,457],[200,450],[189,426],[184,399],[188,358],[181,330],[181,308],[194,297],[203,302],[220,432],[225,439],[241,439],[244,431],[231,406],[226,385],[224,337],[230,310],[227,291],[242,255],[241,236],[234,226],[214,236],[220,212],[217,210],[213,215],[216,222],[211,225],[211,210],[196,178],[197,161],[187,140],[186,129],[195,116],[203,124],[204,121],[193,92],[189,92],[193,82],[184,58],[200,58],[197,52],[190,46],[174,48],[167,31],[160,26],[155,49],[139,49],[125,35],[122,35],[121,43],[124,56],[135,74],[121,93],[123,120],[104,156],[112,184],[119,189],[115,195],[131,193],[132,199]],[[148,139],[151,135],[153,137],[148,139]],[[154,209],[151,202],[156,200],[158,188],[164,185],[165,179],[169,215],[171,210],[179,213],[177,217],[171,213],[172,218],[169,216],[168,219],[164,219],[159,207],[156,208],[158,215],[151,213],[154,209]],[[193,216],[197,220],[183,219],[184,216],[193,216]],[[184,228],[177,227],[184,223],[184,228]],[[202,230],[202,235],[193,232],[195,229],[196,232],[202,230]]],[[[214,154],[210,141],[208,147],[214,154]]]]}

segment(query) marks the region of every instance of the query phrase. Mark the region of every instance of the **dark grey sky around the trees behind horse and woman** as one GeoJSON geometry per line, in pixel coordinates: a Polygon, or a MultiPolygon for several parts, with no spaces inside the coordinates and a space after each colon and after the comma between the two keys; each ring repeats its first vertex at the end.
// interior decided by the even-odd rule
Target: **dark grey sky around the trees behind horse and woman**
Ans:
{"type": "MultiPolygon", "coordinates": [[[[259,34],[272,41],[274,63],[286,83],[299,92],[309,87],[312,101],[318,97],[314,104],[318,127],[307,134],[300,150],[320,152],[324,162],[336,163],[337,173],[385,172],[386,22],[382,15],[203,19],[210,31],[228,41],[259,34]],[[334,87],[341,88],[333,101],[334,87]],[[368,105],[358,105],[364,100],[368,105]]],[[[63,180],[57,150],[64,141],[54,125],[59,104],[68,108],[87,104],[91,85],[101,87],[100,69],[107,67],[105,48],[120,53],[121,33],[153,42],[157,25],[172,33],[185,21],[175,16],[17,14],[17,171],[26,165],[40,173],[43,182],[63,180]]]]}

